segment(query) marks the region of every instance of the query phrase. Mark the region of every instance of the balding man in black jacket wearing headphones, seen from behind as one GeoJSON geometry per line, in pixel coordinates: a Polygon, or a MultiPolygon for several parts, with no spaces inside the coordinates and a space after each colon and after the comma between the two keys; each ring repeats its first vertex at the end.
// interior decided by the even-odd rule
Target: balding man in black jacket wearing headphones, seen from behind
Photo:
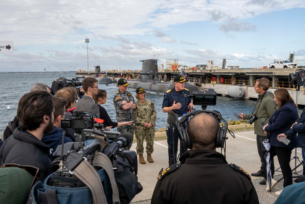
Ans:
{"type": "Polygon", "coordinates": [[[188,123],[192,150],[181,165],[160,171],[151,203],[259,203],[249,174],[216,152],[220,126],[209,113],[198,113],[188,123]]]}

